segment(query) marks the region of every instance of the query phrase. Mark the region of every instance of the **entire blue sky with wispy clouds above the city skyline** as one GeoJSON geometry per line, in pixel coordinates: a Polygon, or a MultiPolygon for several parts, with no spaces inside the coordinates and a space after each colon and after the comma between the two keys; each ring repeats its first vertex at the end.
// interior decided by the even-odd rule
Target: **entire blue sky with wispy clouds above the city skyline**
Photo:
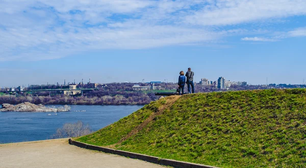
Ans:
{"type": "Polygon", "coordinates": [[[306,79],[305,0],[0,0],[0,87],[306,79]]]}

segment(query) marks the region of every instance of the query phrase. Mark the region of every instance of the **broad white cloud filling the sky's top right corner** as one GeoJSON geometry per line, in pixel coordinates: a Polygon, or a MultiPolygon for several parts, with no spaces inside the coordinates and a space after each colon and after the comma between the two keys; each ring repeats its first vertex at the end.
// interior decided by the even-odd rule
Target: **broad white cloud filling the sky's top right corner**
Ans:
{"type": "Polygon", "coordinates": [[[304,0],[216,0],[193,15],[185,22],[197,25],[233,25],[270,18],[306,14],[304,0]]]}

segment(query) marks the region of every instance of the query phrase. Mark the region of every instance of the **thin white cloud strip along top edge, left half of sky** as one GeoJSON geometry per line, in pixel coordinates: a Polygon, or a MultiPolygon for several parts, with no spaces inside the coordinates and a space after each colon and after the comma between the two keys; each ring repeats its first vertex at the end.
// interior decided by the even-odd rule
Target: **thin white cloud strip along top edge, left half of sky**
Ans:
{"type": "Polygon", "coordinates": [[[71,10],[97,13],[130,13],[154,4],[154,1],[149,0],[4,0],[0,2],[0,9],[9,14],[18,13],[31,7],[52,7],[60,13],[66,13],[71,10]]]}

